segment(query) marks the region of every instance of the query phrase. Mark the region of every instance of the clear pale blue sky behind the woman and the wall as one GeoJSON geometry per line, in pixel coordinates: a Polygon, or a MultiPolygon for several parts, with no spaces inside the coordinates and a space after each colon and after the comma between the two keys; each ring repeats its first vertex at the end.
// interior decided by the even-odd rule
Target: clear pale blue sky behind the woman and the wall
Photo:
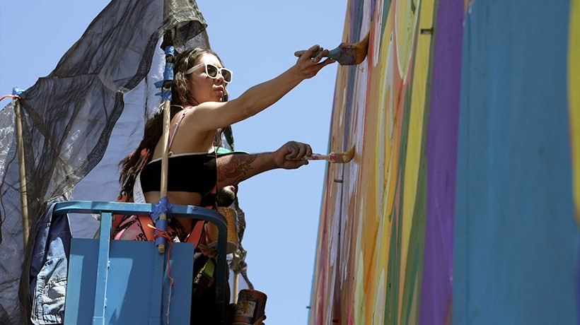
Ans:
{"type": "MultiPolygon", "coordinates": [[[[0,95],[46,76],[109,1],[5,1],[0,11],[0,95]]],[[[198,1],[211,47],[234,71],[236,98],[288,69],[294,52],[342,40],[347,0],[198,1]]],[[[286,141],[329,150],[333,64],[255,117],[233,126],[236,148],[272,151],[286,141]]],[[[0,106],[8,100],[0,102],[0,106]]],[[[306,324],[325,163],[274,170],[240,184],[248,275],[267,294],[267,324],[306,324]]],[[[111,175],[116,182],[117,175],[111,175]]]]}

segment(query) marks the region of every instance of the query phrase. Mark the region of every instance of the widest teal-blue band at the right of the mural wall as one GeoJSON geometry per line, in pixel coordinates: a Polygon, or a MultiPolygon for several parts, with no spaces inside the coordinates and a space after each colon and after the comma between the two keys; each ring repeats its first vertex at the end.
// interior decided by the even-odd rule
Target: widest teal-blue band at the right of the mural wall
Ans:
{"type": "Polygon", "coordinates": [[[569,1],[465,14],[453,324],[578,324],[569,1]]]}

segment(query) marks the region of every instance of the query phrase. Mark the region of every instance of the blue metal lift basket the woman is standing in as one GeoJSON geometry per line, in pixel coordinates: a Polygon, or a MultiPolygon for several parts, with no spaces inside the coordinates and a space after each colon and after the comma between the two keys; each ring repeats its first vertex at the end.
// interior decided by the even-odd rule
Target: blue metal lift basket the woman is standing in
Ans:
{"type": "MultiPolygon", "coordinates": [[[[168,247],[165,254],[160,254],[154,242],[110,240],[113,214],[151,215],[152,209],[153,204],[149,203],[57,203],[53,215],[100,215],[98,240],[71,240],[64,324],[190,324],[193,244],[172,244],[170,267],[175,285],[170,290],[168,247]]],[[[216,211],[199,206],[174,206],[172,210],[168,217],[207,220],[219,230],[216,305],[219,319],[223,321],[225,285],[228,285],[226,219],[216,211]]]]}

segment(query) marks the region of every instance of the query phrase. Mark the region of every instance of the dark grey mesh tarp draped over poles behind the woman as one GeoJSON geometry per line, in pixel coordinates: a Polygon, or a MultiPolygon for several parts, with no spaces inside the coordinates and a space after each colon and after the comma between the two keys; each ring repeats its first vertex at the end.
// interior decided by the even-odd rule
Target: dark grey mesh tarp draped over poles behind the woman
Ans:
{"type": "MultiPolygon", "coordinates": [[[[115,164],[137,146],[144,120],[151,114],[149,107],[160,102],[149,95],[158,80],[145,78],[150,69],[153,76],[162,73],[153,59],[154,54],[163,58],[158,41],[166,30],[176,29],[176,43],[209,46],[205,27],[193,0],[113,0],[54,71],[21,94],[30,225],[46,201],[61,196],[70,199],[71,194],[74,199],[91,199],[83,191],[77,194],[74,187],[98,169],[105,151],[113,166],[102,167],[100,177],[115,184],[115,164]],[[120,125],[122,116],[124,124],[120,125]],[[115,134],[122,136],[111,141],[115,134]],[[116,153],[109,153],[111,146],[116,146],[116,153]]],[[[163,64],[162,59],[158,61],[163,64]]],[[[115,189],[106,193],[96,188],[92,190],[97,196],[104,193],[114,199],[117,194],[115,189]]],[[[29,314],[19,189],[11,103],[0,112],[0,324],[22,324],[28,317],[21,314],[29,314]],[[22,307],[16,299],[21,273],[22,307]]]]}

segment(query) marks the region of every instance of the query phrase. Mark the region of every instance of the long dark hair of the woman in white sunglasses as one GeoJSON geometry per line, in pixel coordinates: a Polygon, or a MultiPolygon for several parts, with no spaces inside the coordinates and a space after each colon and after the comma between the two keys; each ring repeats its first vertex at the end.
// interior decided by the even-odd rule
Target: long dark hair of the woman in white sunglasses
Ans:
{"type": "MultiPolygon", "coordinates": [[[[187,83],[189,83],[190,75],[186,75],[185,71],[197,64],[199,58],[203,54],[212,54],[218,60],[218,55],[202,47],[188,49],[187,51],[178,54],[175,58],[175,65],[173,66],[173,85],[171,87],[171,119],[183,110],[183,107],[192,103],[189,92],[187,91],[187,83]]],[[[121,195],[127,196],[127,199],[133,198],[133,185],[135,177],[139,173],[139,166],[142,166],[151,160],[153,150],[161,139],[163,134],[163,110],[158,110],[153,117],[145,123],[143,139],[137,149],[129,153],[127,157],[120,161],[121,173],[119,175],[119,182],[121,183],[121,195]]]]}

